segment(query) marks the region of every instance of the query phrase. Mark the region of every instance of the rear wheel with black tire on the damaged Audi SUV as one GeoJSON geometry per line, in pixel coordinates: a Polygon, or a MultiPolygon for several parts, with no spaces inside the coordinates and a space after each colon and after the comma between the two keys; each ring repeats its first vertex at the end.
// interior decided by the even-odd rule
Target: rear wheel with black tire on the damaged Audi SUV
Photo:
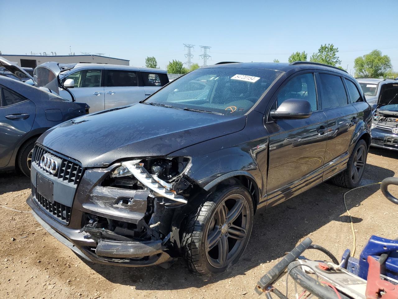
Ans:
{"type": "Polygon", "coordinates": [[[365,171],[367,155],[368,145],[366,144],[365,140],[359,140],[348,159],[347,169],[333,177],[333,183],[340,187],[350,189],[358,187],[365,171]],[[359,151],[361,151],[360,155],[359,151]]]}

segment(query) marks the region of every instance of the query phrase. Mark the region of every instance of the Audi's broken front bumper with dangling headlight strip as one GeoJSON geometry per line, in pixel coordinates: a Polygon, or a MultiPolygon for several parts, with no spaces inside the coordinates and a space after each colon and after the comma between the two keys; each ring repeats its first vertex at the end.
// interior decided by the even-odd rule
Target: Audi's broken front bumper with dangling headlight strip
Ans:
{"type": "MultiPolygon", "coordinates": [[[[176,209],[170,207],[174,207],[174,203],[177,207],[185,205],[185,197],[176,194],[171,185],[154,180],[140,167],[135,168],[134,171],[138,171],[135,174],[139,177],[141,173],[139,180],[145,181],[143,185],[147,187],[152,184],[151,188],[131,190],[101,185],[114,168],[112,165],[107,169],[84,171],[74,194],[69,223],[62,223],[48,209],[43,209],[35,195],[36,179],[32,179],[32,191],[35,192],[29,196],[27,204],[51,235],[85,260],[131,267],[172,260],[175,255],[170,240],[173,234],[171,222],[176,209]]],[[[60,182],[39,164],[32,163],[32,169],[33,176],[45,176],[57,189],[60,182]]],[[[56,198],[54,201],[65,202],[56,198]]]]}

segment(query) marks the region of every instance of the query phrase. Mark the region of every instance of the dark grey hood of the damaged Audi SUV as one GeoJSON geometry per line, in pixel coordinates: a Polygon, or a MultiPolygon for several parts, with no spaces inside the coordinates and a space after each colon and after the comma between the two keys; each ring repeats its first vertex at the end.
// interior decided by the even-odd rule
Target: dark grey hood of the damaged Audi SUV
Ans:
{"type": "Polygon", "coordinates": [[[176,150],[238,132],[246,116],[133,104],[64,122],[38,140],[76,159],[83,167],[104,167],[124,158],[164,156],[176,150]]]}

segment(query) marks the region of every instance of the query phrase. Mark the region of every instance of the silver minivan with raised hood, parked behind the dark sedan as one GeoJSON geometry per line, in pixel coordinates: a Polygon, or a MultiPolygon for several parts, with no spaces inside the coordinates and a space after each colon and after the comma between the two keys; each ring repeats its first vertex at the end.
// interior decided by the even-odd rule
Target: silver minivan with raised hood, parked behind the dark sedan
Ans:
{"type": "Polygon", "coordinates": [[[90,113],[144,100],[169,83],[166,71],[125,65],[47,62],[35,69],[36,86],[85,102],[90,113]]]}

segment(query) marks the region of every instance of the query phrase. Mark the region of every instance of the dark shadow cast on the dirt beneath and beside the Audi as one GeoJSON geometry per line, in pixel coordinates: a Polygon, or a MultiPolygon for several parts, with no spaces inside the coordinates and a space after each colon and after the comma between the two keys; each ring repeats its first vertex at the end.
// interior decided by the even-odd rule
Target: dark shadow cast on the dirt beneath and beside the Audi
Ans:
{"type": "MultiPolygon", "coordinates": [[[[367,165],[363,185],[376,183],[394,172],[375,165],[367,165]]],[[[347,195],[347,206],[351,209],[379,189],[379,185],[358,189],[347,195]]],[[[250,242],[240,261],[226,273],[216,277],[192,275],[183,265],[176,262],[171,268],[160,267],[126,268],[87,263],[94,271],[113,283],[135,286],[142,290],[170,290],[202,287],[208,283],[228,279],[245,272],[261,263],[275,260],[294,248],[297,242],[328,222],[349,222],[343,206],[343,193],[348,189],[323,183],[293,199],[266,211],[256,213],[250,242]]],[[[354,218],[354,222],[362,221],[354,218]]],[[[322,245],[322,244],[321,244],[322,245]]],[[[259,277],[260,278],[260,277],[259,277]]],[[[253,282],[254,283],[254,282],[253,282]]]]}

